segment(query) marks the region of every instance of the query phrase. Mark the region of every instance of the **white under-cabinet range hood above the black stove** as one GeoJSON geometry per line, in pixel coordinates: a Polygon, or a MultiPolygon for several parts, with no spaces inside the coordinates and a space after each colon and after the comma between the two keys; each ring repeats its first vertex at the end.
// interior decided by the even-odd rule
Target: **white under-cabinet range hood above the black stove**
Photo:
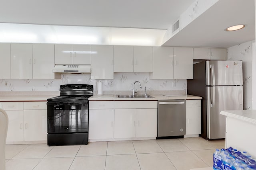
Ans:
{"type": "Polygon", "coordinates": [[[52,72],[90,73],[91,65],[55,64],[52,72]]]}

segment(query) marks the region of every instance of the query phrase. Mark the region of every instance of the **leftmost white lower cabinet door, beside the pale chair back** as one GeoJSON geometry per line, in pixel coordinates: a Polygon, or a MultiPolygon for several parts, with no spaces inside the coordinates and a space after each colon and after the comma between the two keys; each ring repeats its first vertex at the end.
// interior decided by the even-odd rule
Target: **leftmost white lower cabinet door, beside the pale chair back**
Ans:
{"type": "Polygon", "coordinates": [[[9,118],[6,142],[24,141],[23,110],[6,110],[9,118]]]}

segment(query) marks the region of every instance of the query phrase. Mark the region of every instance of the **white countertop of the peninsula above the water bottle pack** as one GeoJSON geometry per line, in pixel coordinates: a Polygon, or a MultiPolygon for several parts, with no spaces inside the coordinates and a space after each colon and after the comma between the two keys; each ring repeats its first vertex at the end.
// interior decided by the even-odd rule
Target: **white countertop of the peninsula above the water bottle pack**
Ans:
{"type": "Polygon", "coordinates": [[[256,110],[225,110],[220,114],[256,124],[256,110]]]}

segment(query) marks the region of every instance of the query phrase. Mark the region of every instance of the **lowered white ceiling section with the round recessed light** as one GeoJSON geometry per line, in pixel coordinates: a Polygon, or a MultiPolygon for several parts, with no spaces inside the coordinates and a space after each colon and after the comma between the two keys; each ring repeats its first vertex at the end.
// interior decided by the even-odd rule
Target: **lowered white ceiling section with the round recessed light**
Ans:
{"type": "Polygon", "coordinates": [[[219,0],[164,45],[232,47],[255,39],[254,18],[254,0],[219,0]],[[246,26],[237,31],[225,31],[237,24],[246,26]]]}

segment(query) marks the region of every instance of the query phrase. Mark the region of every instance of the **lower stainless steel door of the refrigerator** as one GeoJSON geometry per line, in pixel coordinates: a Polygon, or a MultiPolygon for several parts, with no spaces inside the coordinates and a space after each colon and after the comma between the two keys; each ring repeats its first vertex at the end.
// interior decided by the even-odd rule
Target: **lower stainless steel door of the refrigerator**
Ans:
{"type": "Polygon", "coordinates": [[[206,87],[207,138],[225,138],[225,116],[222,110],[243,109],[243,86],[206,87]]]}

